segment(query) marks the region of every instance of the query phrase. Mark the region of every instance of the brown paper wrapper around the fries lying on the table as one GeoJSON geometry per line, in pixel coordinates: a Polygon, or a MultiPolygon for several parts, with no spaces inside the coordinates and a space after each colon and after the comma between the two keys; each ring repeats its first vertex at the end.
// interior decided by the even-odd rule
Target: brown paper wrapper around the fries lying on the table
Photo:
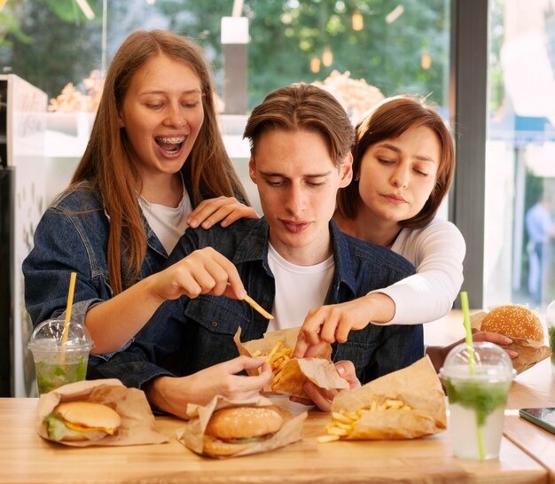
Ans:
{"type": "Polygon", "coordinates": [[[372,398],[378,403],[386,399],[401,400],[411,410],[363,412],[347,440],[416,439],[447,428],[442,383],[427,355],[357,390],[340,392],[333,399],[332,412],[370,408],[372,398]]]}

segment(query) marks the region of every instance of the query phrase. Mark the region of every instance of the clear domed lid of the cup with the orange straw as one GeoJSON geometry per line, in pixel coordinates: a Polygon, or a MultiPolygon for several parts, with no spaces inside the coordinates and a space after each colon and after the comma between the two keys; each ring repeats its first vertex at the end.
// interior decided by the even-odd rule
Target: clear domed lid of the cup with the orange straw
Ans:
{"type": "MultiPolygon", "coordinates": [[[[63,345],[64,321],[49,319],[35,327],[27,347],[31,351],[59,351],[63,345]]],[[[66,350],[90,351],[93,341],[82,324],[70,323],[67,332],[66,350]]]]}

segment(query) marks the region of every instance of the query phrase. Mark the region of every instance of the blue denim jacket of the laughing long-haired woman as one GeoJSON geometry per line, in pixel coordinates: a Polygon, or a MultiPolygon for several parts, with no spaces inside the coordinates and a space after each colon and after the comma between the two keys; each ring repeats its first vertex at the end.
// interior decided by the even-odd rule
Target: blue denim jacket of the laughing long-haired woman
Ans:
{"type": "MultiPolygon", "coordinates": [[[[191,197],[187,176],[184,181],[191,197]]],[[[148,246],[138,280],[159,271],[168,259],[145,217],[143,223],[148,246]]],[[[83,182],[77,191],[63,194],[46,210],[35,230],[35,246],[22,266],[25,303],[33,324],[65,315],[73,271],[77,273],[71,314],[74,323],[84,324],[90,308],[113,297],[108,283],[109,227],[102,196],[90,183],[83,182]]],[[[91,355],[90,366],[111,355],[91,355]]]]}

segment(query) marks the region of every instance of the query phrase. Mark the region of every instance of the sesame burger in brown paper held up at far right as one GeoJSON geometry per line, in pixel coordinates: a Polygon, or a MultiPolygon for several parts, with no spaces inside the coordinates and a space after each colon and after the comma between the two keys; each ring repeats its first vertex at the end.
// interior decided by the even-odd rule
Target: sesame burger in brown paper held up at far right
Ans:
{"type": "Polygon", "coordinates": [[[535,312],[525,306],[504,305],[489,312],[471,316],[473,330],[497,332],[511,338],[510,345],[500,345],[512,349],[519,355],[512,360],[512,366],[521,373],[551,355],[544,344],[543,324],[535,312]]]}

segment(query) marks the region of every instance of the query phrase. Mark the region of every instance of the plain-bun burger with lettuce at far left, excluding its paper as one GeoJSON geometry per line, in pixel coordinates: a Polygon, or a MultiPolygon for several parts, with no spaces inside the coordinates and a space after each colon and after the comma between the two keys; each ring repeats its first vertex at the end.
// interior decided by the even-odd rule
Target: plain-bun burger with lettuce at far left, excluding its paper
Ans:
{"type": "Polygon", "coordinates": [[[94,402],[59,403],[44,420],[53,441],[99,441],[121,425],[115,410],[94,402]]]}

